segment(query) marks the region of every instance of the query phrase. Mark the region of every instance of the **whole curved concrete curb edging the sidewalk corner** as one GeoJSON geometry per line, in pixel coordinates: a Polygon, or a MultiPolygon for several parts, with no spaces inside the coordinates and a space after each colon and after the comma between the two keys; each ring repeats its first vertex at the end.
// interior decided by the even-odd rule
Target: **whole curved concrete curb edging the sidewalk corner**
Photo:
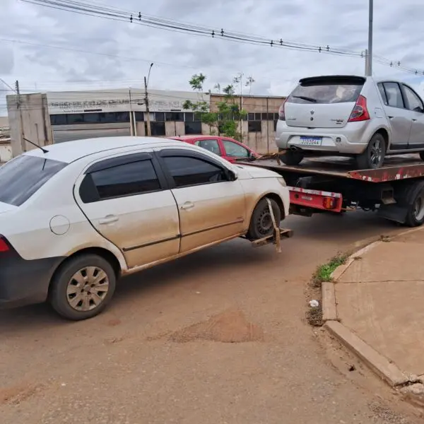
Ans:
{"type": "MultiPolygon", "coordinates": [[[[412,228],[411,230],[406,230],[396,234],[392,238],[400,237],[402,235],[409,234],[411,232],[416,232],[419,230],[424,230],[424,228],[412,228]]],[[[390,241],[389,240],[389,241],[390,241]]],[[[408,377],[404,372],[402,372],[394,363],[389,359],[385,358],[382,354],[375,351],[370,345],[365,343],[361,338],[356,336],[353,331],[348,329],[346,326],[338,322],[338,313],[337,313],[337,300],[336,300],[336,284],[337,280],[341,278],[343,273],[353,264],[355,260],[363,256],[367,252],[370,252],[371,249],[374,249],[379,244],[384,241],[378,240],[376,242],[370,243],[359,249],[354,254],[351,254],[350,257],[346,260],[346,263],[338,266],[333,273],[331,273],[332,281],[322,283],[322,319],[324,321],[324,326],[326,329],[336,336],[341,343],[343,343],[346,348],[351,350],[355,355],[357,355],[364,363],[370,367],[379,377],[384,379],[391,386],[399,386],[406,384],[408,382],[416,382],[417,377],[408,377]]],[[[424,377],[424,376],[421,376],[424,377]]],[[[418,380],[424,381],[423,378],[418,377],[418,380]]]]}

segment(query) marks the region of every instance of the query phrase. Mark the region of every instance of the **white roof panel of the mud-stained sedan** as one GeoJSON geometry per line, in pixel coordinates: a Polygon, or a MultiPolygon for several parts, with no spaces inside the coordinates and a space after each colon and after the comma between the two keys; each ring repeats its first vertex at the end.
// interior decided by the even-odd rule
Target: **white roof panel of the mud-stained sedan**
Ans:
{"type": "Polygon", "coordinates": [[[85,156],[94,155],[95,153],[133,146],[140,146],[143,148],[158,146],[181,147],[181,143],[160,137],[112,136],[99,137],[97,139],[66,141],[64,143],[52,144],[51,146],[44,146],[48,153],[43,153],[40,149],[35,148],[24,154],[71,163],[85,156]]]}

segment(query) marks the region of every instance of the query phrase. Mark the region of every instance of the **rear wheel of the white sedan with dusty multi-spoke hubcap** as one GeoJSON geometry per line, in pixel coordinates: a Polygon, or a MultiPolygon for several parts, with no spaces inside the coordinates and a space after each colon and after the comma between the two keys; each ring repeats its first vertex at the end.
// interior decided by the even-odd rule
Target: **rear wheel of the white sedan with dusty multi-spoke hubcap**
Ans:
{"type": "Polygon", "coordinates": [[[66,319],[79,321],[95,317],[112,299],[116,280],[114,269],[106,259],[96,254],[74,257],[55,273],[50,304],[66,319]]]}

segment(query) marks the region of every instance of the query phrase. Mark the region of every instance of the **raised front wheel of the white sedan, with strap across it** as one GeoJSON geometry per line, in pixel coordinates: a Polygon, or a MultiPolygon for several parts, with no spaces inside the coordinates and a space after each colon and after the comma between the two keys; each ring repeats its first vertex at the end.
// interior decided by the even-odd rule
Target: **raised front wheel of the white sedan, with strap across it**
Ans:
{"type": "MultiPolygon", "coordinates": [[[[277,202],[273,199],[271,206],[274,217],[276,218],[277,225],[281,223],[281,211],[277,202]]],[[[266,199],[261,199],[255,206],[252,218],[250,218],[249,231],[247,232],[247,238],[249,240],[259,240],[263,237],[267,237],[273,234],[273,223],[271,219],[271,213],[269,211],[268,202],[266,199]]]]}

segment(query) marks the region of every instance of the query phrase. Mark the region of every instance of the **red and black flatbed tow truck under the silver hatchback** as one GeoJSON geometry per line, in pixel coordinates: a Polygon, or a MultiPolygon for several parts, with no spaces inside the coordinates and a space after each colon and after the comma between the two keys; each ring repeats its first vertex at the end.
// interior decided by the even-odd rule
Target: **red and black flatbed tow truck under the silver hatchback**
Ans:
{"type": "Polygon", "coordinates": [[[424,223],[424,162],[418,155],[389,156],[378,169],[355,170],[351,158],[305,158],[283,165],[278,153],[243,165],[264,167],[282,175],[290,190],[290,213],[346,213],[362,209],[402,225],[424,223]]]}

